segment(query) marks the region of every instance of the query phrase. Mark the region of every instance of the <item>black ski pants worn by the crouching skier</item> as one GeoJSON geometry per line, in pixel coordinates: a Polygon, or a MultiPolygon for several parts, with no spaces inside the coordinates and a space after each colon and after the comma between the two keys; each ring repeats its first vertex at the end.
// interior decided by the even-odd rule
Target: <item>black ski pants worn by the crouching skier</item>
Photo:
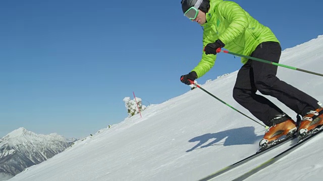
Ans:
{"type": "MultiPolygon", "coordinates": [[[[278,63],[281,56],[281,46],[277,42],[263,42],[252,52],[251,56],[278,63]]],[[[274,103],[262,95],[277,98],[288,108],[302,117],[310,110],[319,107],[318,101],[299,89],[280,80],[277,66],[255,60],[248,60],[238,72],[233,88],[233,98],[257,119],[270,126],[276,115],[284,114],[274,103]]]]}

